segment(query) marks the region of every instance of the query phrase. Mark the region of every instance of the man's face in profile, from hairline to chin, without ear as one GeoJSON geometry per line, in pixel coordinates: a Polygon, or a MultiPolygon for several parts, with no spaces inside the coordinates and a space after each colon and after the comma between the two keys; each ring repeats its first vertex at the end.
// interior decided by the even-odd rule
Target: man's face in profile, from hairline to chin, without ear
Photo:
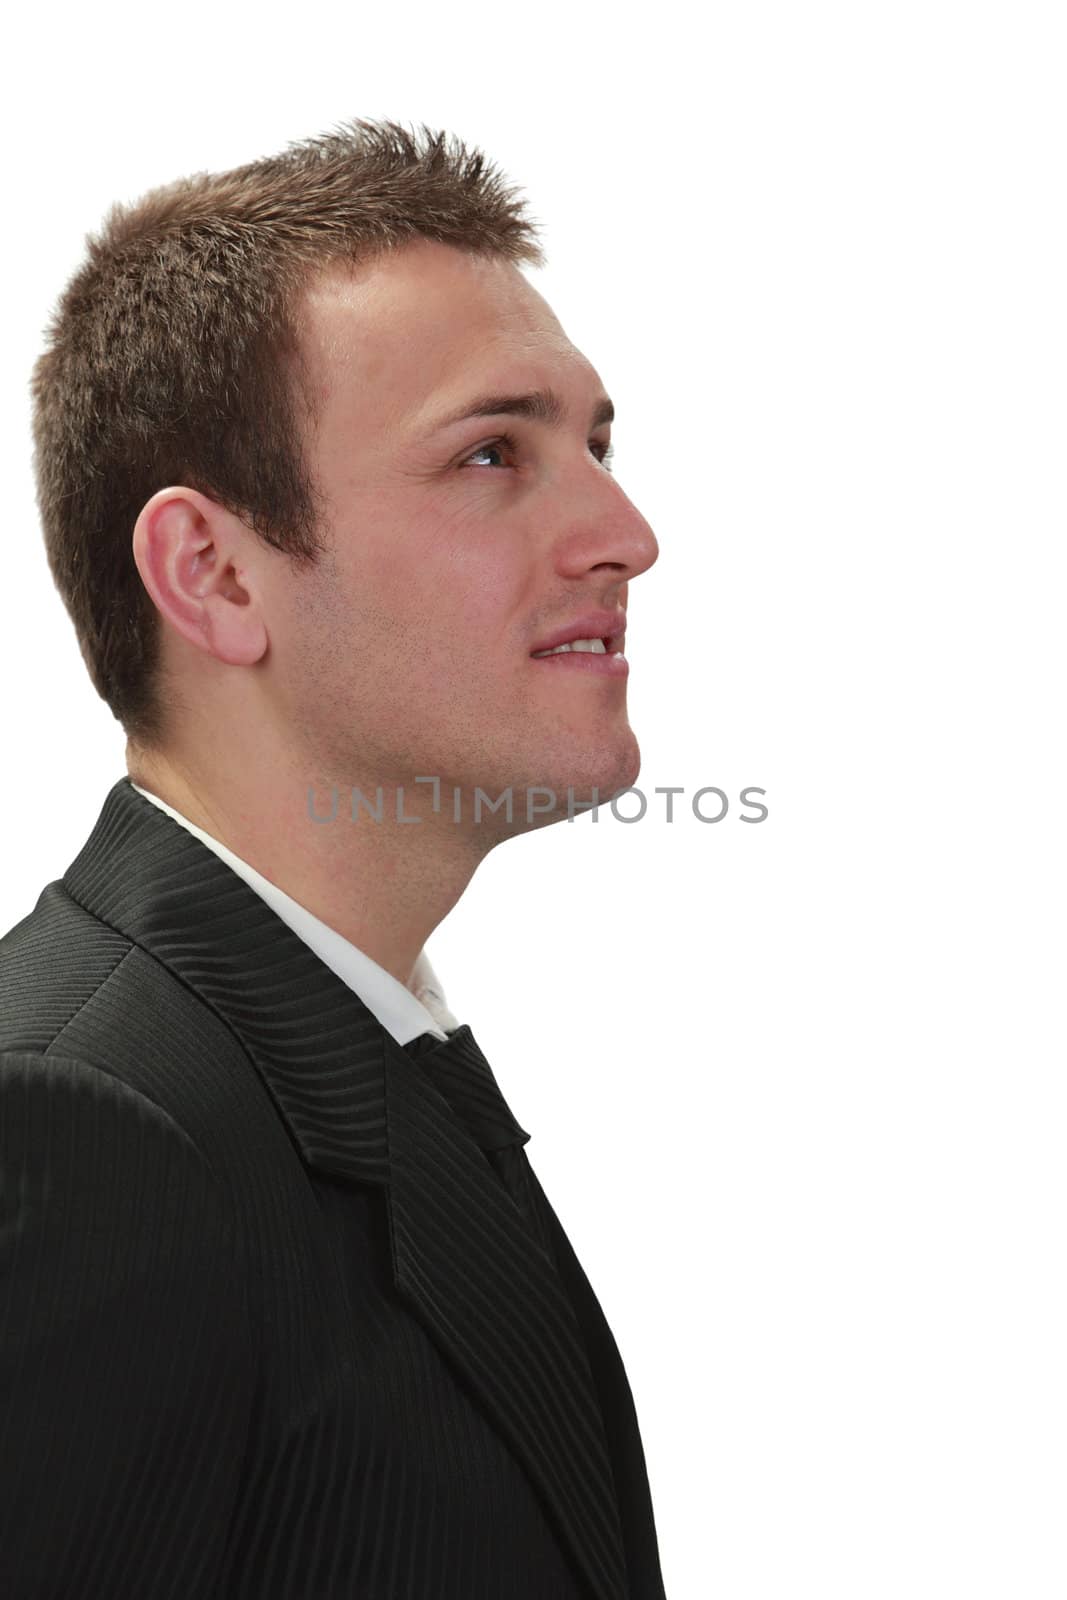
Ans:
{"type": "Polygon", "coordinates": [[[595,370],[517,267],[429,240],[320,277],[302,339],[331,550],[310,574],[286,568],[270,642],[309,781],[437,776],[464,818],[475,787],[514,786],[515,830],[530,786],[560,811],[568,786],[625,789],[640,755],[621,662],[534,656],[576,624],[622,627],[627,582],[657,555],[603,466],[595,370]],[[533,390],[558,395],[561,421],[448,421],[533,390]]]}

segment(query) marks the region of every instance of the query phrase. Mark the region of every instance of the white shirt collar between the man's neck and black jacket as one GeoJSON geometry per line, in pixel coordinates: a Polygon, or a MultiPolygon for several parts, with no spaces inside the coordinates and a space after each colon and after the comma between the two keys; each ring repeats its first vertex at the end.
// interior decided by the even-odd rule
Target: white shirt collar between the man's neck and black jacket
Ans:
{"type": "MultiPolygon", "coordinates": [[[[133,784],[133,779],[130,781],[133,784]]],[[[158,795],[149,794],[141,784],[133,784],[133,787],[146,800],[150,800],[152,805],[157,805],[160,811],[166,811],[176,822],[189,829],[227,867],[232,867],[267,902],[270,910],[315,952],[318,960],[325,962],[360,997],[363,1005],[374,1013],[398,1045],[406,1045],[408,1040],[418,1038],[419,1034],[435,1034],[438,1038],[445,1038],[451,1029],[459,1027],[445,1003],[445,994],[426,950],[419,952],[419,958],[405,987],[392,973],[387,973],[384,966],[379,966],[378,962],[373,962],[370,955],[365,955],[363,950],[339,934],[336,928],[330,928],[318,917],[314,917],[291,894],[286,894],[277,883],[264,878],[261,872],[250,867],[246,861],[235,856],[232,850],[221,845],[211,834],[205,834],[202,827],[190,822],[174,806],[160,800],[158,795]]]]}

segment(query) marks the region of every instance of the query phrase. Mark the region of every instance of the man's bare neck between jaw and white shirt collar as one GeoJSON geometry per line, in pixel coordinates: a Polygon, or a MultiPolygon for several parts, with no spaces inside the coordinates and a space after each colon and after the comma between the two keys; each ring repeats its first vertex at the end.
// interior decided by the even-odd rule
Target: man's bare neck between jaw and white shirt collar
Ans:
{"type": "Polygon", "coordinates": [[[456,827],[429,790],[405,786],[398,822],[395,784],[382,784],[382,819],[365,808],[352,819],[352,790],[376,800],[378,781],[347,778],[317,787],[285,773],[229,770],[126,747],[133,782],[165,800],[270,883],[304,906],[371,960],[406,984],[430,933],[470,882],[490,848],[488,832],[456,827]],[[336,800],[336,814],[334,813],[336,800]],[[310,803],[309,803],[310,802],[310,803]],[[314,821],[315,816],[330,821],[314,821]]]}

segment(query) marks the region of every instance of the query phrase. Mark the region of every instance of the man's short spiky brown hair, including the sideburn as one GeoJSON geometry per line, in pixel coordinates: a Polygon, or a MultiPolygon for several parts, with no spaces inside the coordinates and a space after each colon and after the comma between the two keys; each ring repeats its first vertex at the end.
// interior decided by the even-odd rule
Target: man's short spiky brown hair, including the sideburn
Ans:
{"type": "Polygon", "coordinates": [[[141,507],[182,483],[314,562],[293,307],[330,262],[419,235],[544,264],[525,202],[480,150],[363,118],[117,205],[86,240],[34,368],[37,502],[93,685],[144,749],[163,742],[166,707],[131,549],[141,507]]]}

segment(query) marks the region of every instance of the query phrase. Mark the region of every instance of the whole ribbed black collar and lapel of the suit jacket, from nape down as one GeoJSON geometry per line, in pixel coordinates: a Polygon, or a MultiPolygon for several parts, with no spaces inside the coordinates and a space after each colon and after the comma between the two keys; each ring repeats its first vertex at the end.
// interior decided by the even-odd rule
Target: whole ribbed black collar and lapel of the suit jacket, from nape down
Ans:
{"type": "Polygon", "coordinates": [[[397,1291],[514,1450],[592,1594],[625,1600],[611,1462],[574,1312],[432,1077],[128,778],[62,883],[230,1026],[312,1171],[384,1190],[397,1291]]]}

